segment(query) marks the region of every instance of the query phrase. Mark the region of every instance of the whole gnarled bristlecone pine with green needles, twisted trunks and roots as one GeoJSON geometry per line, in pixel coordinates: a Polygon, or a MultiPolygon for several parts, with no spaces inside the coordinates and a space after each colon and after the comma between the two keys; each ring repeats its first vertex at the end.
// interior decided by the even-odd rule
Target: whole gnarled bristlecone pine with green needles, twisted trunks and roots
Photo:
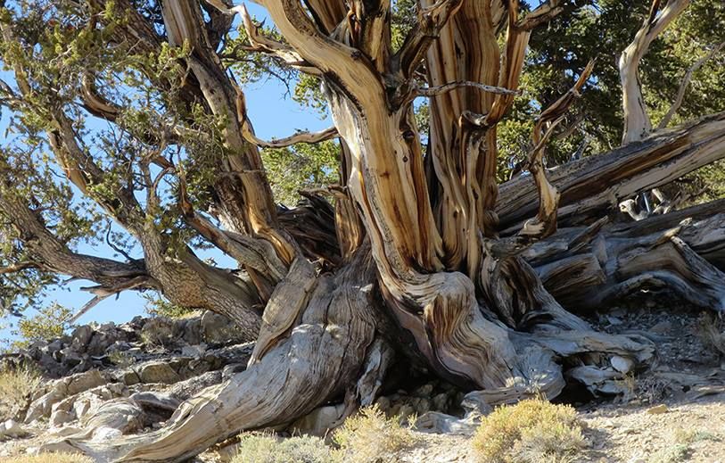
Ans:
{"type": "Polygon", "coordinates": [[[597,390],[614,358],[646,368],[654,349],[571,310],[659,288],[725,309],[725,203],[621,220],[636,195],[725,157],[725,113],[664,128],[692,71],[660,128],[638,78],[688,0],[655,0],[616,52],[621,148],[545,167],[549,142],[582,120],[569,110],[598,85],[590,62],[566,74],[568,90],[549,89],[525,144],[528,174],[502,184],[497,125],[522,97],[531,34],[597,2],[256,3],[273,28],[230,0],[0,0],[0,103],[12,118],[0,149],[5,310],[70,276],[95,282],[83,310],[151,290],[256,339],[249,368],[160,430],[69,445],[101,461],[179,461],[330,401],[368,405],[394,363],[492,405],[554,398],[564,376],[597,390]],[[334,127],[255,136],[236,73],[267,64],[313,93],[319,82],[334,127]],[[426,133],[416,99],[428,102],[426,133]],[[260,147],[333,138],[339,182],[278,207],[260,147]],[[89,236],[125,259],[78,252],[89,236]],[[202,260],[203,246],[238,269],[202,260]]]}

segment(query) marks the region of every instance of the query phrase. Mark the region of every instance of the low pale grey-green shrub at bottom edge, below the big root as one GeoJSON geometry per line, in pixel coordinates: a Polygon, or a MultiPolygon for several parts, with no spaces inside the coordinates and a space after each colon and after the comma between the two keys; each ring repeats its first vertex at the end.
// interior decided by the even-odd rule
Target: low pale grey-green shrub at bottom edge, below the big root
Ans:
{"type": "Polygon", "coordinates": [[[318,437],[242,434],[232,463],[342,463],[318,437]]]}

